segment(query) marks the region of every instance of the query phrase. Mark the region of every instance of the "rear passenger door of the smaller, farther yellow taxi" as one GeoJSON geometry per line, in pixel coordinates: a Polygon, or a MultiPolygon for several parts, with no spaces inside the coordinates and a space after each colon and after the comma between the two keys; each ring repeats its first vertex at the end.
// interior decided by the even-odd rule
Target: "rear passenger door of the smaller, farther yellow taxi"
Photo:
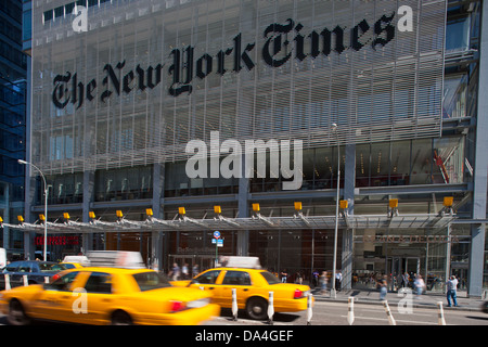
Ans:
{"type": "Polygon", "coordinates": [[[237,307],[243,309],[247,298],[252,295],[251,275],[245,270],[228,270],[223,275],[221,284],[217,286],[215,298],[216,304],[221,307],[232,307],[232,290],[236,291],[237,307]]]}

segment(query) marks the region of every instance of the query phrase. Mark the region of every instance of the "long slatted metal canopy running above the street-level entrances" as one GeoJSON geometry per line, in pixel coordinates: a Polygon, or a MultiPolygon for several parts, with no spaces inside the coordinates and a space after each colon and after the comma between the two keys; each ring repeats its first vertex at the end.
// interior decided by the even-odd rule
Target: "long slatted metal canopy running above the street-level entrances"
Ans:
{"type": "MultiPolygon", "coordinates": [[[[342,214],[338,229],[441,229],[455,219],[455,215],[355,215],[342,214]]],[[[269,230],[269,229],[334,229],[335,216],[305,216],[297,214],[292,217],[265,217],[260,214],[249,218],[227,218],[217,215],[214,218],[194,219],[177,215],[172,220],[163,220],[147,216],[146,220],[128,220],[120,217],[108,222],[92,219],[89,222],[65,220],[64,222],[48,222],[49,233],[100,233],[100,232],[151,232],[151,231],[202,231],[202,230],[269,230]]],[[[42,222],[10,224],[9,228],[42,233],[42,222]]]]}

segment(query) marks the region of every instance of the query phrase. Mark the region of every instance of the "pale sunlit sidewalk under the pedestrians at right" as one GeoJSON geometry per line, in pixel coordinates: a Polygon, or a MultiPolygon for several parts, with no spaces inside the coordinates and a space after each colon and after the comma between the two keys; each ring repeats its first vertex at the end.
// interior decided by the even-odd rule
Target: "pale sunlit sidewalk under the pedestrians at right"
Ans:
{"type": "MultiPolygon", "coordinates": [[[[330,291],[320,293],[320,290],[314,288],[311,291],[313,297],[318,301],[338,301],[347,303],[349,297],[355,298],[355,303],[358,304],[371,304],[380,305],[380,291],[368,290],[343,290],[338,291],[335,298],[331,298],[330,291]]],[[[412,299],[412,307],[418,308],[433,308],[437,309],[437,303],[441,301],[442,307],[446,310],[465,310],[465,311],[479,311],[483,303],[481,298],[467,297],[466,292],[458,292],[458,307],[448,307],[446,295],[441,293],[427,293],[423,294],[420,298],[414,293],[402,294],[397,292],[388,292],[385,299],[389,305],[398,305],[400,301],[407,304],[408,298],[412,299]]]]}

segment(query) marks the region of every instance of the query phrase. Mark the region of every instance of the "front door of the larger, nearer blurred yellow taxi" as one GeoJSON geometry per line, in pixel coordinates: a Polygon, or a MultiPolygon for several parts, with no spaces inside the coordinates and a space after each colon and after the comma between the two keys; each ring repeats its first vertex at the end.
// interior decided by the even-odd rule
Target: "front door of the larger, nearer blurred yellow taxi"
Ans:
{"type": "Polygon", "coordinates": [[[51,284],[44,284],[44,290],[34,299],[33,311],[37,318],[77,322],[73,314],[73,290],[84,273],[68,272],[51,284]]]}

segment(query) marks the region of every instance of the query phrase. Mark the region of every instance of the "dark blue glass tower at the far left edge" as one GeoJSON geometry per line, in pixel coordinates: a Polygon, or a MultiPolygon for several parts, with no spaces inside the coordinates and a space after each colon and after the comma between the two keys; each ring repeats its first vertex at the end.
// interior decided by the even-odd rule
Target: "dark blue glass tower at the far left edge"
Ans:
{"type": "MultiPolygon", "coordinates": [[[[5,222],[24,215],[27,57],[22,51],[23,8],[20,0],[0,4],[0,216],[5,222]]],[[[23,233],[2,229],[0,245],[10,256],[23,253],[23,233]]]]}

